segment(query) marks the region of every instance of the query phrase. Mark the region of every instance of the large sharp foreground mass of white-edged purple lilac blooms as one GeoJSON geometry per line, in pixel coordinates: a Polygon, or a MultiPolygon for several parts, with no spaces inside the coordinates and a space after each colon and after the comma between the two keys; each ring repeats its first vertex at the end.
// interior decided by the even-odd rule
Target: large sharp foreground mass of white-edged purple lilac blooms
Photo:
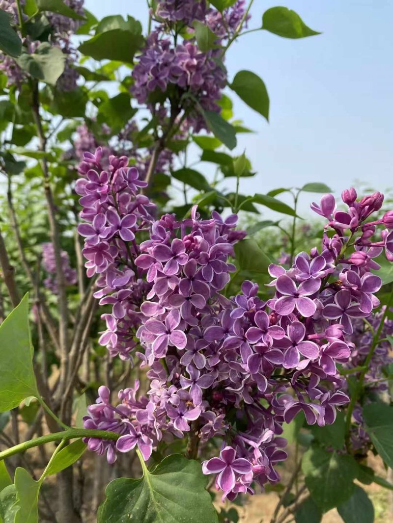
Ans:
{"type": "Polygon", "coordinates": [[[203,220],[194,207],[183,221],[166,214],[151,223],[150,214],[147,220],[143,214],[141,223],[151,225],[150,237],[135,247],[137,219],[129,217],[134,211],[125,207],[115,219],[113,210],[117,196],[127,205],[139,198],[136,187],[129,187],[135,171],[112,158],[114,174],[99,174],[99,156],[85,155],[81,172],[88,179],[77,190],[84,195],[82,217],[91,223],[79,229],[86,237],[88,273],[102,274],[101,303],[113,306],[100,341],[112,354],[121,343],[125,357],[136,345],[136,334],[143,348],[136,355],[140,366],[148,368],[150,384],[138,398],[138,384],[120,391],[117,406],[108,401],[109,391],[100,388],[85,426],[121,437],[117,442],[86,438],[89,448],[106,452],[113,462],[116,450],[138,446],[148,459],[163,438],[182,438],[191,431],[207,449],[206,443],[219,436],[220,457],[205,461],[203,471],[216,474],[223,497],[253,493],[253,482],[276,483],[276,464],[286,459],[283,422],[302,411],[309,424],[332,424],[336,408],[349,401],[336,365],[354,354],[354,325],[378,305],[374,294],[381,280],[370,267],[377,266],[375,249],[379,253],[382,247],[372,245],[369,229],[374,234],[375,225],[365,220],[381,207],[381,195],[360,202],[355,196],[347,212],[335,210],[331,195],[323,197],[313,208],[326,215],[326,229],[330,226],[335,234],[325,231],[321,252],[315,247],[310,255],[298,254],[289,270],[271,265],[269,286],[275,293],[267,302],[251,281],[228,299],[222,291],[235,270],[233,244],[245,234],[235,230],[236,215],[223,220],[213,212],[203,220]],[[112,271],[126,263],[127,245],[134,246],[135,267],[125,265],[114,277],[112,271]],[[350,248],[355,251],[345,258],[350,248]],[[132,278],[137,270],[146,276],[146,299],[139,300],[139,311],[129,304],[135,291],[128,270],[132,278]],[[113,283],[117,276],[121,290],[113,283]]]}

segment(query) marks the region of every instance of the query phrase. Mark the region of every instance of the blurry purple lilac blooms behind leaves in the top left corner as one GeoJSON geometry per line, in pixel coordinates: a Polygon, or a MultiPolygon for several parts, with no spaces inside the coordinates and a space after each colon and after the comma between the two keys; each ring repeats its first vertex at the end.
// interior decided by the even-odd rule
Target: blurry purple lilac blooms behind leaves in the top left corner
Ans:
{"type": "MultiPolygon", "coordinates": [[[[84,0],[64,0],[64,4],[68,5],[79,15],[84,14],[83,3],[84,0]]],[[[25,0],[20,0],[20,5],[23,7],[25,0]]],[[[15,0],[1,0],[0,8],[10,13],[13,16],[13,23],[18,25],[18,9],[15,0]]],[[[71,42],[71,36],[82,22],[81,20],[74,20],[52,12],[47,12],[46,18],[51,26],[50,43],[59,47],[66,55],[64,71],[58,79],[57,86],[63,91],[75,89],[79,73],[73,68],[77,58],[77,51],[71,42]]],[[[29,53],[34,52],[40,43],[38,40],[32,41],[29,37],[25,38],[23,42],[24,50],[29,53]]],[[[21,83],[26,81],[28,76],[25,71],[20,69],[13,58],[2,53],[0,53],[0,71],[4,71],[6,74],[8,85],[16,85],[17,87],[20,87],[21,83]]]]}

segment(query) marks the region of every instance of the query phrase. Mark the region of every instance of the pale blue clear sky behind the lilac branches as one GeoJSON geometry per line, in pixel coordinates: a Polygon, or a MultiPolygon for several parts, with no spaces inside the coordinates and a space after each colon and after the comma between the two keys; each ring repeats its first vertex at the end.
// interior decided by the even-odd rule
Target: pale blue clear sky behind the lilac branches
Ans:
{"type": "MultiPolygon", "coordinates": [[[[258,172],[242,180],[241,192],[323,181],[338,196],[356,179],[381,191],[393,186],[393,2],[255,0],[249,28],[276,5],[293,9],[322,35],[289,40],[258,31],[228,51],[229,78],[242,69],[254,71],[270,96],[267,123],[228,93],[234,116],[256,131],[238,135],[235,153],[246,149],[258,172]]],[[[85,0],[85,6],[97,18],[132,15],[146,28],[144,0],[85,0]]],[[[303,213],[310,199],[319,198],[313,197],[301,198],[303,213]]]]}

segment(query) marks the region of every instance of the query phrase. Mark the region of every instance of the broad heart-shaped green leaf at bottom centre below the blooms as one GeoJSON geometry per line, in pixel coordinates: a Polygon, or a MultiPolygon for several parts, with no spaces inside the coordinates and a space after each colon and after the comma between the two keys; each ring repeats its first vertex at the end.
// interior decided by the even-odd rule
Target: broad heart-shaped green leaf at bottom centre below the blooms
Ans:
{"type": "Polygon", "coordinates": [[[122,477],[106,487],[98,523],[216,523],[217,513],[205,490],[208,480],[198,461],[172,454],[140,479],[122,477]]]}

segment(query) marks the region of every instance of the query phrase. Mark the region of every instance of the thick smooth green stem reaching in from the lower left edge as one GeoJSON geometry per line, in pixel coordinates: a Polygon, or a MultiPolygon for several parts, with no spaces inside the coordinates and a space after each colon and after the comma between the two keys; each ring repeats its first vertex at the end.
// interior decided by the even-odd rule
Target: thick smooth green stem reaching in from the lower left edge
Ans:
{"type": "Polygon", "coordinates": [[[48,434],[46,436],[40,436],[39,438],[29,439],[23,443],[19,443],[14,447],[3,450],[0,452],[0,460],[14,456],[19,452],[25,452],[28,449],[33,447],[38,447],[39,445],[45,445],[51,441],[59,440],[69,440],[77,438],[99,438],[99,439],[110,439],[116,441],[121,435],[115,432],[107,432],[106,430],[95,430],[95,429],[84,429],[84,428],[69,428],[68,430],[63,430],[61,432],[55,432],[48,434]]]}

